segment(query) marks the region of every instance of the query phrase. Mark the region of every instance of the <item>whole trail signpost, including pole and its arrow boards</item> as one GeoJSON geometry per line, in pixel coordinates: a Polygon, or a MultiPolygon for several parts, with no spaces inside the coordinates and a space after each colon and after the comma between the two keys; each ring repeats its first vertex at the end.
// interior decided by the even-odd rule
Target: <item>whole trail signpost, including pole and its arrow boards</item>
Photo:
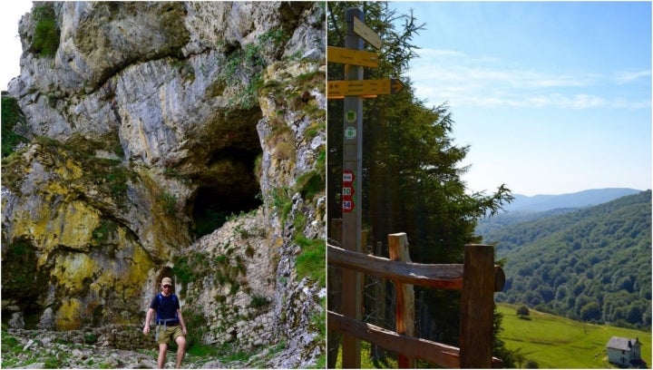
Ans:
{"type": "MultiPolygon", "coordinates": [[[[342,179],[342,247],[361,252],[362,248],[362,194],[363,173],[363,98],[399,93],[404,83],[397,79],[364,80],[363,67],[378,67],[375,53],[363,50],[364,41],[376,49],[381,47],[381,37],[364,23],[363,12],[358,8],[346,10],[347,33],[345,48],[327,47],[327,62],[345,64],[344,81],[327,82],[327,99],[344,99],[343,117],[343,179],[342,179]]],[[[362,274],[352,269],[342,271],[341,311],[353,319],[361,317],[362,274]]],[[[360,340],[354,336],[342,337],[343,368],[360,368],[360,340]]]]}

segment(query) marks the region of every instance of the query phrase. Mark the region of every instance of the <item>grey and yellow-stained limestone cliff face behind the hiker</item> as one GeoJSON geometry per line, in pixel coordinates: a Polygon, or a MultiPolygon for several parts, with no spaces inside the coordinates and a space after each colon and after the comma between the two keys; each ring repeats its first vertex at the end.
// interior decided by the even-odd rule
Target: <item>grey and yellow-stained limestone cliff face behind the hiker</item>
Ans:
{"type": "Polygon", "coordinates": [[[297,259],[324,256],[324,22],[319,3],[34,3],[3,317],[141,323],[172,276],[200,340],[319,355],[324,282],[297,259]]]}

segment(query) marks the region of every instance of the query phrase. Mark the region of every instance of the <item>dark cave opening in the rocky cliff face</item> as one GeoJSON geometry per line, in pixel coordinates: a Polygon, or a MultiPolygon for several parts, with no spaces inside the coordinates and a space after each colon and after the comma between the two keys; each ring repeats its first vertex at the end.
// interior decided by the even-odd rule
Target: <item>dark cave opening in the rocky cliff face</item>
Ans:
{"type": "Polygon", "coordinates": [[[260,184],[254,162],[261,154],[235,148],[215,151],[195,191],[192,205],[193,234],[198,238],[219,229],[232,214],[258,209],[260,184]]]}

